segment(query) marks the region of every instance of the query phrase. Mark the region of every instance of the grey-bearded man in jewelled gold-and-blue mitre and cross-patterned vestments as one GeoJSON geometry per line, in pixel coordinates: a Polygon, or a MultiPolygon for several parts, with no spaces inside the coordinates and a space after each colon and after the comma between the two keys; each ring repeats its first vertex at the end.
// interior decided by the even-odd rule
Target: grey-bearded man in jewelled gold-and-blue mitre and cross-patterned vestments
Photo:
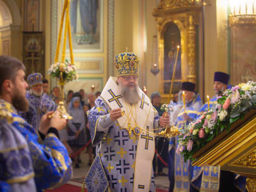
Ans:
{"type": "MultiPolygon", "coordinates": [[[[116,55],[118,77],[110,77],[88,111],[97,155],[85,177],[88,191],[155,191],[152,159],[154,130],[169,124],[158,116],[150,99],[138,87],[137,55],[116,55]]],[[[166,116],[165,116],[166,115],[166,116]]]]}

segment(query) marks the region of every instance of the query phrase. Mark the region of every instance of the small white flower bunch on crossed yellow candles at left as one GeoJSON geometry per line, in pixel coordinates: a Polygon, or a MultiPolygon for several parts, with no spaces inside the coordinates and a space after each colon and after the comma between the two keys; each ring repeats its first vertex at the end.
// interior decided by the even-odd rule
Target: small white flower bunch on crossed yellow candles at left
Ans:
{"type": "Polygon", "coordinates": [[[52,77],[57,77],[60,80],[60,73],[63,75],[65,82],[74,81],[78,79],[76,67],[65,60],[65,62],[54,63],[48,69],[48,74],[52,77]]]}

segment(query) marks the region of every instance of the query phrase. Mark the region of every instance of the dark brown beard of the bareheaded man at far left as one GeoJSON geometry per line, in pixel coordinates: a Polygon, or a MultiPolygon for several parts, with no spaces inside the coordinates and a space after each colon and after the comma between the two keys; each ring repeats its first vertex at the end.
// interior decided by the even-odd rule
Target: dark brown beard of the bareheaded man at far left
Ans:
{"type": "Polygon", "coordinates": [[[29,110],[29,101],[27,101],[26,97],[20,95],[16,87],[12,95],[12,104],[20,112],[27,112],[29,110]]]}

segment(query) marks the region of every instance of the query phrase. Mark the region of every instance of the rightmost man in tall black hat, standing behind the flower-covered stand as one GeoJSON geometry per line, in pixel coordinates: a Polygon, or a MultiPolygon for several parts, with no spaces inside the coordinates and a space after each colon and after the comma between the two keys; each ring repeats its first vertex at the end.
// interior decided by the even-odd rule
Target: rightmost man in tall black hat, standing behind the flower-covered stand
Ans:
{"type": "MultiPolygon", "coordinates": [[[[215,96],[210,99],[209,105],[212,108],[217,103],[218,96],[222,96],[229,86],[229,74],[223,72],[215,72],[213,89],[215,96]]],[[[206,102],[199,110],[199,118],[202,113],[207,112],[208,103],[206,102]]],[[[246,191],[245,177],[235,176],[230,171],[221,170],[219,166],[194,166],[192,182],[200,191],[246,191]],[[235,186],[236,185],[236,186],[235,186]]]]}

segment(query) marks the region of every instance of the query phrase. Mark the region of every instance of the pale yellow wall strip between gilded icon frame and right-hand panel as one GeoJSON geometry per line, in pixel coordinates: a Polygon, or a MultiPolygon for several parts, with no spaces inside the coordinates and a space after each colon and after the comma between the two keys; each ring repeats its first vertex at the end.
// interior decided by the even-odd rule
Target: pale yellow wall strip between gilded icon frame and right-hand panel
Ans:
{"type": "Polygon", "coordinates": [[[213,74],[215,71],[229,73],[227,9],[227,2],[221,0],[208,1],[208,5],[205,6],[205,96],[214,95],[213,74]]]}

